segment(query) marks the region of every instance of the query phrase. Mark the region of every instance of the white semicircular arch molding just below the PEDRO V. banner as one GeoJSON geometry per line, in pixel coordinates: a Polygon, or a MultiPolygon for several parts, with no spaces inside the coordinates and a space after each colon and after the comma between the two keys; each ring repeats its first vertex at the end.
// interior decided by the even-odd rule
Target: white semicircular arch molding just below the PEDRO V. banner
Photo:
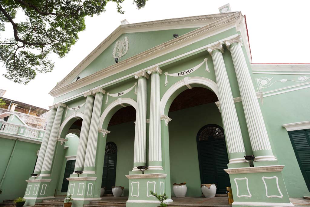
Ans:
{"type": "MultiPolygon", "coordinates": [[[[217,87],[217,83],[215,83],[211,79],[204,78],[204,77],[189,77],[187,84],[188,85],[201,85],[201,86],[205,86],[206,88],[210,88],[219,99],[219,90],[217,87]]],[[[187,84],[185,83],[184,79],[179,80],[165,92],[165,94],[162,96],[162,99],[160,101],[160,115],[165,115],[165,113],[168,113],[168,110],[169,110],[169,107],[172,101],[175,99],[175,97],[180,92],[187,89],[186,87],[187,84]],[[184,90],[182,90],[182,87],[184,88],[184,90]],[[178,93],[174,94],[176,91],[178,91],[178,93]]]]}

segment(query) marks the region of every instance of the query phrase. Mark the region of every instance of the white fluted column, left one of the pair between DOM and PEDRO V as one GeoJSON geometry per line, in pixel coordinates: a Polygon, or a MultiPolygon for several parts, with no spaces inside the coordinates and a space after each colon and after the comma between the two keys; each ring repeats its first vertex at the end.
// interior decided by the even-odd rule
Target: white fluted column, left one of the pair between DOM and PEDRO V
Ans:
{"type": "Polygon", "coordinates": [[[135,121],[135,149],[134,168],[132,171],[140,171],[137,166],[146,166],[146,79],[148,74],[141,70],[135,74],[138,79],[137,111],[135,121]]]}

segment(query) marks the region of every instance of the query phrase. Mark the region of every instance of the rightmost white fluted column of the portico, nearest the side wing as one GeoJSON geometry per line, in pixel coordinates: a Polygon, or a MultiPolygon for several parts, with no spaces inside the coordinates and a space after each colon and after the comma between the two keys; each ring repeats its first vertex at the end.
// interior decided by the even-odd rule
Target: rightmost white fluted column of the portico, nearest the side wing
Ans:
{"type": "Polygon", "coordinates": [[[274,161],[263,115],[257,101],[254,85],[241,48],[241,36],[225,40],[232,55],[242,106],[246,116],[250,142],[256,161],[274,161]]]}

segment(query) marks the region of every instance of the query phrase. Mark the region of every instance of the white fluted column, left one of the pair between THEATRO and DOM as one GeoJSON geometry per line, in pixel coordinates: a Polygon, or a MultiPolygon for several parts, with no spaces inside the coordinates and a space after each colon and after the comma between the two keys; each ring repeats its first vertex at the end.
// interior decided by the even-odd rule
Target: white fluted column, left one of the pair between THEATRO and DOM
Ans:
{"type": "Polygon", "coordinates": [[[87,145],[89,128],[91,125],[91,114],[93,111],[94,99],[95,99],[92,91],[84,93],[84,97],[86,97],[86,104],[84,109],[84,116],[81,127],[80,139],[78,143],[78,152],[77,152],[77,159],[75,161],[74,171],[83,170],[84,168],[86,145],[87,145]]]}

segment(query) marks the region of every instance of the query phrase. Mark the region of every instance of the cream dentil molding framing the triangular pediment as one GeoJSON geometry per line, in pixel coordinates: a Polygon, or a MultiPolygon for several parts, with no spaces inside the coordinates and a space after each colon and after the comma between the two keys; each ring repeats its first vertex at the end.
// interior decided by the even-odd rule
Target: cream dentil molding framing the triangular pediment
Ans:
{"type": "MultiPolygon", "coordinates": [[[[110,68],[110,70],[107,70],[107,72],[112,71],[112,70],[116,71],[116,68],[119,68],[119,67],[121,67],[123,65],[128,65],[128,63],[133,62],[133,61],[135,61],[135,62],[138,61],[138,62],[142,63],[142,61],[139,60],[139,59],[143,58],[143,59],[147,59],[148,60],[148,58],[145,58],[145,56],[152,56],[152,54],[158,53],[158,51],[161,51],[161,50],[165,51],[165,50],[167,50],[168,47],[178,46],[179,44],[182,44],[183,42],[188,41],[189,38],[190,39],[195,39],[195,38],[197,39],[197,38],[199,38],[200,36],[203,36],[203,35],[207,36],[207,35],[211,35],[211,34],[214,35],[214,33],[217,34],[217,33],[219,33],[219,31],[216,31],[216,30],[220,30],[220,29],[223,30],[223,28],[225,28],[225,27],[226,27],[225,29],[228,29],[227,27],[230,24],[233,24],[233,27],[235,27],[234,23],[235,23],[236,20],[240,19],[240,16],[241,16],[241,12],[240,11],[239,12],[227,13],[227,14],[217,14],[218,18],[217,19],[213,19],[215,21],[213,21],[212,23],[207,24],[205,26],[202,26],[202,27],[200,27],[198,29],[195,29],[194,31],[189,32],[187,34],[181,35],[178,38],[171,39],[170,41],[168,41],[166,43],[162,43],[161,45],[158,45],[158,46],[153,47],[153,48],[151,48],[151,49],[149,49],[149,50],[147,50],[145,52],[142,52],[140,54],[137,54],[135,56],[127,58],[126,60],[121,61],[121,62],[119,62],[117,64],[109,66],[108,68],[110,68]],[[211,30],[211,32],[210,32],[210,30],[211,30]]],[[[187,19],[187,21],[190,21],[190,20],[191,21],[197,21],[197,19],[195,19],[195,18],[199,18],[199,16],[196,16],[196,17],[186,17],[185,19],[187,19]]],[[[183,19],[183,18],[178,18],[178,19],[179,19],[178,21],[180,21],[180,19],[183,19]]],[[[165,20],[160,20],[160,21],[165,21],[165,20]]],[[[152,24],[152,22],[138,23],[138,24],[140,24],[140,25],[141,24],[152,24]]],[[[82,79],[80,79],[80,80],[78,80],[76,82],[73,82],[73,83],[70,83],[68,85],[65,85],[65,84],[71,82],[76,77],[76,75],[78,75],[83,69],[85,69],[86,66],[90,62],[95,60],[95,58],[97,56],[99,56],[99,54],[101,52],[103,52],[111,43],[113,43],[122,34],[122,28],[124,28],[124,26],[125,27],[130,27],[131,25],[121,25],[116,30],[114,30],[114,32],[112,34],[110,34],[102,43],[100,43],[100,45],[98,47],[96,47],[80,64],[78,64],[77,67],[75,67],[63,80],[61,80],[60,83],[58,83],[49,93],[52,96],[54,96],[56,94],[59,94],[61,89],[63,90],[63,88],[66,88],[67,86],[82,85],[81,83],[87,81],[89,78],[90,79],[94,78],[94,77],[92,77],[93,76],[93,74],[92,74],[92,75],[89,75],[89,76],[87,76],[85,78],[82,78],[82,79]],[[111,43],[108,43],[108,42],[111,42],[111,43]],[[88,78],[88,79],[86,79],[86,78],[88,78]]],[[[146,25],[143,25],[143,26],[146,26],[146,25]]],[[[171,29],[171,27],[170,27],[170,29],[171,29]]],[[[191,43],[189,43],[189,44],[191,44],[191,43]]],[[[183,43],[183,45],[184,45],[184,43],[183,43]]],[[[145,60],[145,61],[147,61],[147,60],[145,60]]],[[[119,72],[119,70],[117,70],[117,72],[119,72]]],[[[95,81],[97,81],[97,80],[94,80],[94,82],[95,81]]],[[[82,85],[82,86],[84,86],[84,85],[82,85]]]]}

